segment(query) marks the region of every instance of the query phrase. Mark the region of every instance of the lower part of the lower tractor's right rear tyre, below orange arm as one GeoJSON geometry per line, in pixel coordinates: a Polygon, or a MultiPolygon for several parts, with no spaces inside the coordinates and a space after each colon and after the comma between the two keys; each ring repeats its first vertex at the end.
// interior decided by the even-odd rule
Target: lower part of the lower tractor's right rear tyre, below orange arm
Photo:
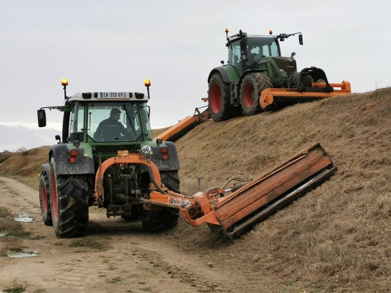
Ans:
{"type": "Polygon", "coordinates": [[[138,205],[138,207],[141,223],[148,230],[168,230],[178,225],[178,209],[145,210],[143,205],[138,205]]]}

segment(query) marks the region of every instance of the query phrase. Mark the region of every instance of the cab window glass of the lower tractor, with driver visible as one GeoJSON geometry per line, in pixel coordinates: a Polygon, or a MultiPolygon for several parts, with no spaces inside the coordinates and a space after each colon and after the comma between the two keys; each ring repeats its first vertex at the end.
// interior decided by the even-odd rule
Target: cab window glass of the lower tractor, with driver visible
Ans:
{"type": "Polygon", "coordinates": [[[71,133],[84,131],[96,142],[134,142],[152,139],[145,103],[76,103],[71,133]],[[87,127],[83,117],[87,113],[87,127]]]}

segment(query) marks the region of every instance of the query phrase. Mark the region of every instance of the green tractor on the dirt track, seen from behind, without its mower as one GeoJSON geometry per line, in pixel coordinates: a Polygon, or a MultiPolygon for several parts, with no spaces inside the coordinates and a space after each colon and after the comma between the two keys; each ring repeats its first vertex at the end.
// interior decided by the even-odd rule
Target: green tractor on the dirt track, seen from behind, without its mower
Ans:
{"type": "Polygon", "coordinates": [[[45,108],[64,112],[63,142],[56,135],[59,142],[50,146],[49,163],[42,165],[40,175],[39,198],[44,224],[53,225],[59,238],[83,235],[87,231],[88,208],[98,206],[107,209],[108,217],[140,218],[142,225],[151,230],[177,225],[178,209],[141,203],[140,199],[148,198],[154,179],[149,166],[113,164],[104,174],[99,174],[102,178],[99,188],[106,197],[98,199],[95,192],[102,162],[129,153],[142,154],[148,162],[153,162],[160,182],[180,193],[180,167],[174,143],[152,141],[147,106],[150,81],[145,82],[148,96],[138,92],[86,92],[67,97],[67,84],[64,79],[65,105],[38,110],[39,127],[46,126],[45,108]],[[116,115],[114,125],[102,122],[107,122],[112,113],[116,115]]]}

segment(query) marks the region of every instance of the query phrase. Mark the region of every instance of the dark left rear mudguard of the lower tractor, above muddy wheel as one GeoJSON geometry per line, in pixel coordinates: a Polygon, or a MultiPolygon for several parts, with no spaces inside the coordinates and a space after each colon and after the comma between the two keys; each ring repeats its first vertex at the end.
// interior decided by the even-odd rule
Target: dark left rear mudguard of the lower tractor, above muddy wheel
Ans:
{"type": "MultiPolygon", "coordinates": [[[[66,144],[57,144],[50,146],[49,162],[54,158],[56,162],[56,174],[59,175],[75,175],[75,174],[95,174],[94,160],[85,156],[84,148],[77,148],[79,155],[76,157],[75,163],[69,162],[69,150],[66,144]]],[[[49,164],[47,164],[49,165],[49,164]]],[[[46,170],[46,164],[42,165],[46,170]]],[[[49,174],[49,173],[47,173],[49,174]]]]}

